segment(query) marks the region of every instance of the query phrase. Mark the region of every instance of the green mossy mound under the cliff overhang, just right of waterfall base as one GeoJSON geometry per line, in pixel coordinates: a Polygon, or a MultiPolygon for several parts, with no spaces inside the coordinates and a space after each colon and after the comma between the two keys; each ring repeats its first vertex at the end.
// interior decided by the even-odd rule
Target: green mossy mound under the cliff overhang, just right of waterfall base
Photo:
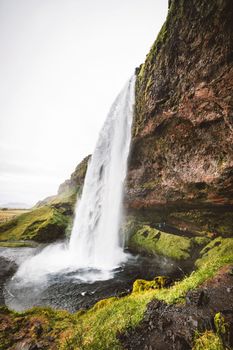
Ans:
{"type": "Polygon", "coordinates": [[[130,237],[129,247],[139,252],[181,260],[190,257],[192,241],[187,237],[165,233],[144,225],[130,237]]]}

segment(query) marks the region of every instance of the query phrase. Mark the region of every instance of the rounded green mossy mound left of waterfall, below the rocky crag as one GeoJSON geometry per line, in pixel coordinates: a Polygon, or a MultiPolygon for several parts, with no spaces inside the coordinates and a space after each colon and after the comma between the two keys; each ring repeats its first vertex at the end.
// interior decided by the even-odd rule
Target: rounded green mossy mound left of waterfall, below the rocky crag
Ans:
{"type": "Polygon", "coordinates": [[[0,225],[0,240],[52,241],[64,237],[68,223],[59,210],[43,206],[0,225]]]}

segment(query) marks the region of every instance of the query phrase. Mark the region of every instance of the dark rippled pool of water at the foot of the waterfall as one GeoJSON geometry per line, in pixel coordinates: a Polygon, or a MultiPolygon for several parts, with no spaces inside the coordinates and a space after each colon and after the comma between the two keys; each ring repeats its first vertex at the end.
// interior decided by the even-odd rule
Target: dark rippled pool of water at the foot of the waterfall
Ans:
{"type": "MultiPolygon", "coordinates": [[[[38,248],[0,248],[0,256],[21,265],[37,254],[38,248]]],[[[153,279],[158,275],[179,278],[182,266],[161,256],[142,257],[129,254],[122,266],[110,271],[94,269],[65,269],[47,273],[46,278],[27,280],[12,276],[4,285],[5,304],[16,311],[33,306],[51,306],[75,312],[88,308],[97,301],[110,296],[129,293],[135,279],[153,279]]]]}

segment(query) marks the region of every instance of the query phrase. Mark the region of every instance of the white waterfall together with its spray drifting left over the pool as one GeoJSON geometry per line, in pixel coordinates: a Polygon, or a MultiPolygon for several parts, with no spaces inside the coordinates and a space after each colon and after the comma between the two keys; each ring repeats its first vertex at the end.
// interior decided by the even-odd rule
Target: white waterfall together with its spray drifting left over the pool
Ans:
{"type": "Polygon", "coordinates": [[[67,279],[71,273],[80,283],[107,280],[127,260],[120,224],[134,85],[132,77],[113,103],[100,132],[77,203],[69,245],[64,242],[49,245],[20,264],[7,286],[10,294],[5,296],[13,308],[34,305],[35,298],[39,300],[40,293],[43,295],[58,276],[67,279]],[[17,298],[12,299],[11,295],[17,298]]]}

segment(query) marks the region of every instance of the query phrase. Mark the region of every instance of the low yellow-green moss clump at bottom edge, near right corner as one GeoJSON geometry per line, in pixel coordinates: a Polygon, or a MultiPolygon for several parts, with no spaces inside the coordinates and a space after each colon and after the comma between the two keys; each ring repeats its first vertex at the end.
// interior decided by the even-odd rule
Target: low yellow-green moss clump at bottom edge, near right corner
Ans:
{"type": "Polygon", "coordinates": [[[225,350],[221,338],[213,331],[196,335],[192,350],[225,350]]]}

